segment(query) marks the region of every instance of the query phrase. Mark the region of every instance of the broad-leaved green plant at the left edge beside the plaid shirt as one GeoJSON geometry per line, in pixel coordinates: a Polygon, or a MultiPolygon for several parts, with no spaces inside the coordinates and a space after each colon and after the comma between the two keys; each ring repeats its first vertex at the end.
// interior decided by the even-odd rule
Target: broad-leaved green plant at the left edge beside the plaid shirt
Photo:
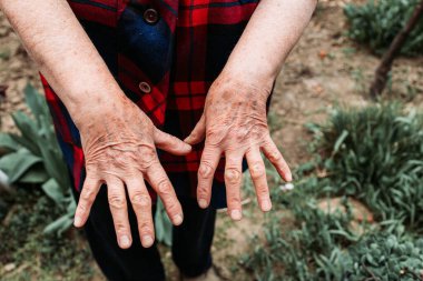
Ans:
{"type": "Polygon", "coordinates": [[[63,213],[45,231],[61,233],[71,225],[76,208],[68,170],[45,98],[31,86],[24,89],[24,97],[33,118],[21,111],[12,114],[20,134],[0,133],[0,148],[6,151],[0,158],[0,169],[8,174],[10,183],[41,184],[63,213]]]}

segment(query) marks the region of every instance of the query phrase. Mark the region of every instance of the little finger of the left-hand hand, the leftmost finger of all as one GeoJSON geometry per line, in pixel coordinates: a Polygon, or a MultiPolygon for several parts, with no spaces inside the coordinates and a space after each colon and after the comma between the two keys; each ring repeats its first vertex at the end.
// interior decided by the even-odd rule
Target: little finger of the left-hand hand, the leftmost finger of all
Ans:
{"type": "Polygon", "coordinates": [[[101,182],[87,173],[81,194],[79,195],[78,207],[75,212],[75,227],[81,228],[87,222],[92,203],[96,200],[100,187],[101,182]]]}

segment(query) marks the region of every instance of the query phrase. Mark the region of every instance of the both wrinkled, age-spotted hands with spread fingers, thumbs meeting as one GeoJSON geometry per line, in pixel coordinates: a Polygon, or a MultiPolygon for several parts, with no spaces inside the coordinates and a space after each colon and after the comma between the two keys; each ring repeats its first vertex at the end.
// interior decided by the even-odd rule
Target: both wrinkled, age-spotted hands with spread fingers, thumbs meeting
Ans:
{"type": "Polygon", "coordinates": [[[268,87],[253,87],[219,77],[212,86],[201,119],[185,140],[167,134],[127,98],[106,106],[104,113],[81,117],[78,128],[86,158],[87,177],[76,211],[75,225],[82,227],[101,184],[107,185],[118,244],[129,248],[132,238],[128,222],[128,203],[137,215],[138,231],[144,247],[154,243],[151,199],[145,180],[161,198],[175,225],[183,222],[183,210],[175,190],[159,163],[156,148],[184,155],[190,144],[205,139],[198,170],[197,198],[201,208],[210,202],[214,173],[220,157],[226,158],[225,183],[228,213],[242,218],[242,161],[247,159],[263,211],[269,211],[265,165],[260,152],[269,159],[279,174],[291,181],[291,171],[270,139],[266,120],[268,87]],[[126,200],[126,191],[130,202],[126,200]]]}

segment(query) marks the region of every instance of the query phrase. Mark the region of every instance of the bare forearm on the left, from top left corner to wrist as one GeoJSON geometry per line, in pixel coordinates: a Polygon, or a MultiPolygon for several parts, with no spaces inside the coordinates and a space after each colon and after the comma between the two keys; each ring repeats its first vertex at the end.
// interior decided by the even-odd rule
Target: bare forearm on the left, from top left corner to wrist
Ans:
{"type": "Polygon", "coordinates": [[[122,98],[66,0],[0,0],[0,9],[75,121],[122,98]]]}

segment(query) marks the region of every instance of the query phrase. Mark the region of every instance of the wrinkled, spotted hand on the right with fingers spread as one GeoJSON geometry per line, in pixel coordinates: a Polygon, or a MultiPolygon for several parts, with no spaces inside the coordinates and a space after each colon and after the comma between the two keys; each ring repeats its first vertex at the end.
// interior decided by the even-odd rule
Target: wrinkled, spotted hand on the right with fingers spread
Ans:
{"type": "Polygon", "coordinates": [[[289,168],[267,128],[268,96],[269,90],[265,87],[257,88],[222,77],[210,87],[203,117],[190,136],[185,139],[189,144],[206,139],[198,170],[197,198],[201,208],[207,208],[210,202],[213,178],[222,153],[226,158],[228,213],[234,220],[242,219],[240,184],[244,157],[247,159],[263,211],[269,211],[272,202],[260,151],[270,160],[284,180],[292,180],[289,168]]]}

